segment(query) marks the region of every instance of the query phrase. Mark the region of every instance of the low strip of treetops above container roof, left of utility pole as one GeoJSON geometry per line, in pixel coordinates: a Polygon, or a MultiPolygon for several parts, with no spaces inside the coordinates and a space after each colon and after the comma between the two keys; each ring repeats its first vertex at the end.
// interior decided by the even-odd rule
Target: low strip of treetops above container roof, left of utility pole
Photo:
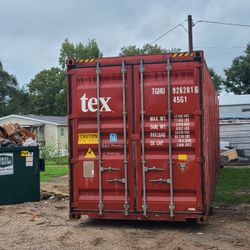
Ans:
{"type": "Polygon", "coordinates": [[[160,45],[151,45],[145,44],[142,48],[136,47],[136,45],[129,45],[124,46],[121,48],[120,56],[135,56],[135,55],[152,55],[152,54],[164,54],[170,52],[179,52],[180,49],[172,48],[172,49],[165,49],[162,48],[160,45]]]}

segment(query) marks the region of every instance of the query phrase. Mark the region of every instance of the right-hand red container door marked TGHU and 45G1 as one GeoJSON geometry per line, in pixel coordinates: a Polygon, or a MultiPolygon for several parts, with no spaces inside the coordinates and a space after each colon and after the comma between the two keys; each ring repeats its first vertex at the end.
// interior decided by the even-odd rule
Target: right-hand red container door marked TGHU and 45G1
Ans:
{"type": "Polygon", "coordinates": [[[198,71],[170,60],[134,67],[136,207],[144,215],[201,206],[198,71]]]}

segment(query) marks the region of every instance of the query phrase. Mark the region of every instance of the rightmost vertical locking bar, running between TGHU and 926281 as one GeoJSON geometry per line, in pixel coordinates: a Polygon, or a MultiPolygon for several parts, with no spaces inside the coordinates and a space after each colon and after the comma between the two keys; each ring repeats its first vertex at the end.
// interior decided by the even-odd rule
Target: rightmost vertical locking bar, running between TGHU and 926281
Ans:
{"type": "Polygon", "coordinates": [[[171,110],[171,63],[170,59],[167,59],[167,81],[168,81],[168,162],[169,162],[169,184],[170,184],[170,203],[169,211],[170,218],[174,217],[174,190],[173,190],[173,159],[172,159],[172,110],[171,110]]]}

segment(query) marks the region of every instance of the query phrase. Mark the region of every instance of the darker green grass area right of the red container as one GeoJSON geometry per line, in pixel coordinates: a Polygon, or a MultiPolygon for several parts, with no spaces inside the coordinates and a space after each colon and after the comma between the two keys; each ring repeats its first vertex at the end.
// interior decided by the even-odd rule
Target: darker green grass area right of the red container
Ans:
{"type": "Polygon", "coordinates": [[[250,203],[250,168],[220,169],[213,203],[250,203]]]}

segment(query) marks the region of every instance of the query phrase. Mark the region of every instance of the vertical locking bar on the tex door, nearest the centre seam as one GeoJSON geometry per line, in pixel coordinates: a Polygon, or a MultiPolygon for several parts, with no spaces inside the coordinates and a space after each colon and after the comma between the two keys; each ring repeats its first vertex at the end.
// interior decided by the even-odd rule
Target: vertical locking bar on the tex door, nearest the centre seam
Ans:
{"type": "Polygon", "coordinates": [[[125,62],[122,62],[121,73],[122,73],[122,115],[123,115],[123,154],[124,154],[124,214],[128,215],[129,204],[128,204],[128,157],[127,157],[127,111],[126,111],[126,78],[125,74],[127,69],[125,62]]]}

